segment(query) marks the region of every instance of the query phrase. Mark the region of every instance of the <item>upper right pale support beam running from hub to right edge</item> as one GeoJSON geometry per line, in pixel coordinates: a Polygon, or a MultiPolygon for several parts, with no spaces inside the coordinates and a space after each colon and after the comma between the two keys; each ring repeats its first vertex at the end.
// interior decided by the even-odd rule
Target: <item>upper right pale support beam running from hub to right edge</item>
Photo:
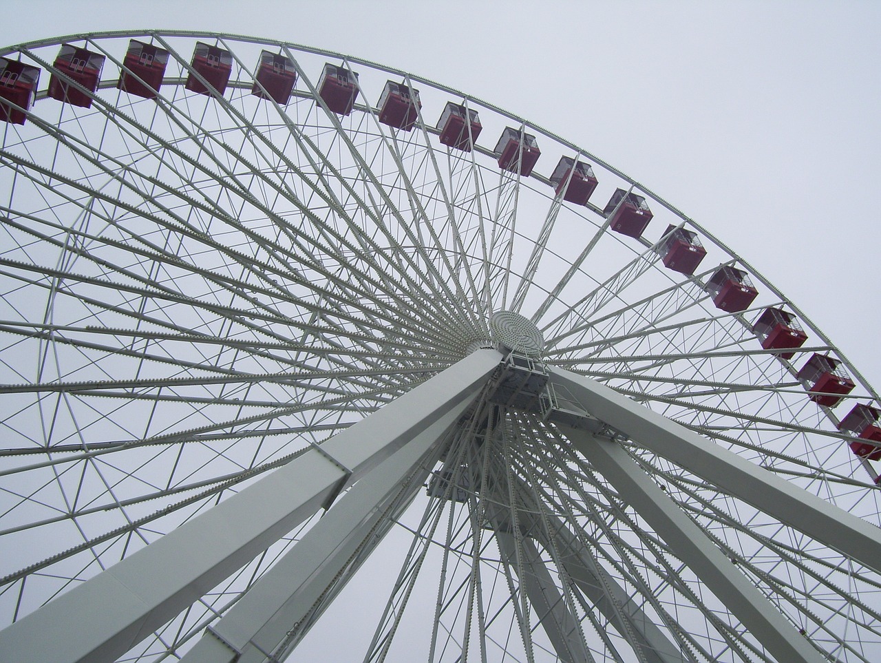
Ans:
{"type": "Polygon", "coordinates": [[[881,528],[589,377],[551,368],[551,383],[597,419],[730,495],[881,573],[881,528]]]}

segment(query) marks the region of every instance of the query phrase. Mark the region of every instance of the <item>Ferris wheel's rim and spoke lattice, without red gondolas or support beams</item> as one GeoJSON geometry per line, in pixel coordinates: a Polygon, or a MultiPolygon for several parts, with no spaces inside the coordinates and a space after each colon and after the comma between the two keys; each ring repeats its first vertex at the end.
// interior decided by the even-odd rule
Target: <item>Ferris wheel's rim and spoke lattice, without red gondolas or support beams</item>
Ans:
{"type": "MultiPolygon", "coordinates": [[[[877,406],[875,392],[767,279],[651,191],[635,187],[655,212],[652,239],[611,233],[600,208],[564,203],[548,183],[552,164],[566,156],[595,168],[597,205],[616,187],[634,186],[593,155],[450,88],[292,44],[140,35],[172,56],[160,101],[132,97],[115,89],[115,78],[129,38],[138,36],[88,38],[88,48],[107,57],[92,108],[41,98],[26,125],[3,127],[11,248],[3,254],[0,382],[11,442],[2,529],[4,548],[17,551],[4,566],[4,623],[490,343],[489,320],[506,309],[533,318],[549,363],[608,384],[878,523],[878,490],[866,473],[877,469],[855,458],[836,427],[849,403],[877,406]],[[233,53],[223,96],[182,85],[196,41],[233,53]],[[284,107],[250,93],[262,48],[297,63],[297,92],[284,107]],[[361,88],[359,107],[342,117],[315,94],[322,63],[341,59],[359,72],[361,88]],[[422,94],[423,114],[410,132],[390,130],[364,106],[386,78],[422,94]],[[445,101],[480,112],[484,133],[474,152],[438,141],[434,117],[445,101]],[[501,171],[492,155],[494,137],[521,125],[544,153],[533,177],[501,171]],[[665,222],[700,235],[709,254],[700,280],[663,268],[654,247],[665,222]],[[717,264],[744,269],[759,287],[743,316],[708,300],[703,283],[717,264]],[[767,307],[795,313],[808,332],[792,364],[762,351],[751,332],[767,307]],[[856,390],[837,408],[818,408],[796,379],[814,351],[838,358],[855,378],[856,390]]],[[[20,53],[48,78],[60,42],[7,56],[20,53]]],[[[516,476],[532,487],[544,518],[562,513],[584,536],[590,525],[594,538],[582,543],[603,570],[647,601],[660,628],[697,659],[766,657],[727,611],[699,598],[697,577],[678,568],[552,428],[522,413],[504,421],[492,447],[498,466],[490,445],[482,458],[470,457],[467,444],[448,452],[484,468],[472,485],[510,474],[513,491],[516,476]],[[542,458],[524,439],[559,452],[542,458]],[[706,635],[677,629],[690,620],[706,635]]],[[[829,657],[872,659],[881,641],[872,607],[877,574],[648,451],[628,449],[829,657]]],[[[522,592],[501,600],[497,622],[498,597],[474,598],[484,564],[514,588],[528,545],[515,541],[513,562],[500,562],[504,555],[483,533],[485,492],[433,501],[416,511],[425,525],[418,516],[411,525],[433,524],[432,532],[446,525],[449,538],[437,549],[416,545],[404,570],[429,566],[418,562],[423,549],[426,560],[432,550],[435,570],[448,568],[454,553],[471,562],[465,579],[450,571],[441,581],[441,608],[426,630],[438,660],[463,650],[491,658],[507,650],[513,659],[552,650],[540,634],[532,641],[536,622],[522,592]],[[478,553],[463,555],[465,548],[478,553]],[[492,633],[515,623],[516,637],[492,633]],[[464,635],[475,628],[483,637],[464,635]]],[[[297,536],[204,604],[222,612],[297,536]]],[[[545,554],[554,562],[560,552],[545,554]]],[[[597,659],[639,658],[633,634],[606,635],[608,621],[579,592],[560,592],[582,624],[576,639],[597,659]]],[[[393,592],[392,605],[398,600],[393,592]]],[[[196,637],[211,621],[204,604],[140,652],[155,658],[196,637]]],[[[381,623],[377,652],[396,628],[394,619],[381,623]]]]}

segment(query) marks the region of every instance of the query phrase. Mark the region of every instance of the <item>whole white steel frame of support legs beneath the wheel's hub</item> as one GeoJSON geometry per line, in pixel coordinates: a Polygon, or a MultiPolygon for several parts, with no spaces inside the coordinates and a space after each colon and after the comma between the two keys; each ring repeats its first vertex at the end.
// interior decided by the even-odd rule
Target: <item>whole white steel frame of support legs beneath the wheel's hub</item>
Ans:
{"type": "MultiPolygon", "coordinates": [[[[275,660],[315,601],[337,582],[356,550],[377,538],[382,525],[387,530],[411,501],[428,476],[426,468],[433,465],[442,447],[449,447],[457,424],[461,434],[466,410],[483,409],[475,406],[474,399],[478,393],[486,393],[487,380],[498,374],[499,368],[500,354],[479,350],[445,369],[343,433],[316,444],[241,494],[4,629],[0,648],[12,659],[114,660],[173,617],[192,597],[266,548],[269,540],[278,539],[322,506],[329,507],[335,495],[354,483],[329,508],[327,516],[207,629],[183,658],[194,663],[275,660]],[[432,453],[434,460],[426,466],[426,456],[432,453]],[[56,637],[46,637],[48,631],[56,637]]],[[[589,430],[591,426],[558,424],[574,449],[646,519],[754,637],[778,660],[825,660],[731,563],[735,560],[643,472],[620,434],[629,437],[630,443],[676,459],[707,481],[734,488],[733,495],[761,504],[767,513],[815,540],[845,535],[838,548],[867,568],[877,567],[881,559],[877,528],[589,379],[552,369],[552,380],[574,396],[586,416],[592,415],[609,427],[597,434],[589,430]],[[611,430],[615,432],[610,435],[611,430]],[[799,504],[797,518],[788,507],[791,501],[799,504]]],[[[492,426],[485,433],[487,448],[490,436],[492,426]]],[[[637,605],[628,605],[630,597],[614,580],[603,580],[603,572],[581,545],[581,533],[572,533],[553,514],[551,520],[544,520],[544,527],[539,525],[546,507],[539,505],[540,494],[527,480],[517,480],[517,506],[510,503],[507,508],[497,506],[502,501],[489,488],[486,476],[479,478],[472,472],[470,485],[474,487],[478,480],[483,481],[481,502],[489,500],[482,510],[498,541],[501,561],[516,569],[524,600],[529,601],[559,659],[583,661],[592,657],[581,634],[580,618],[567,607],[571,602],[565,592],[569,590],[561,592],[555,585],[559,580],[552,578],[534,540],[541,541],[546,550],[563,551],[559,572],[572,578],[591,603],[607,612],[610,623],[636,633],[634,651],[640,652],[640,659],[691,659],[687,652],[677,652],[637,605]],[[509,518],[510,508],[522,509],[522,513],[509,518]]]]}

